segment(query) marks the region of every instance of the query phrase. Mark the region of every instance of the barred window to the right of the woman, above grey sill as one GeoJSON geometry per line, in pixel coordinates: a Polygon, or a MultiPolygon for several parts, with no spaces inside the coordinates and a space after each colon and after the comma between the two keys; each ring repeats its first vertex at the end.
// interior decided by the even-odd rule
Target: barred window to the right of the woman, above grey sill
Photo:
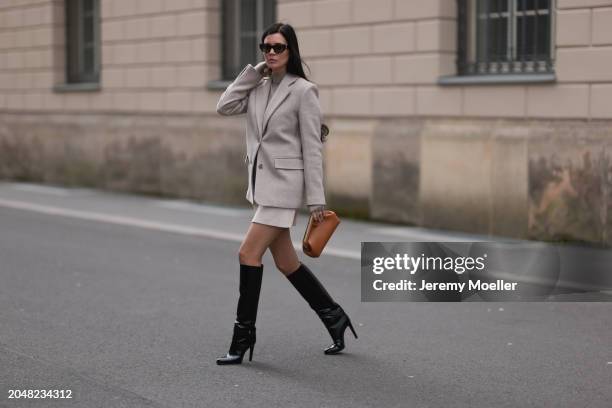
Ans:
{"type": "Polygon", "coordinates": [[[458,0],[459,75],[550,74],[553,0],[458,0]]]}

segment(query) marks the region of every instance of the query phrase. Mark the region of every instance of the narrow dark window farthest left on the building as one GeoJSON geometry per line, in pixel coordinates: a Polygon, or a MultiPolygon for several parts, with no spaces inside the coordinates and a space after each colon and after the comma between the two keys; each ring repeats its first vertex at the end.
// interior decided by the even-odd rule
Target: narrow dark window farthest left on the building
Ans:
{"type": "Polygon", "coordinates": [[[66,80],[100,80],[100,11],[98,0],[65,0],[66,80]]]}

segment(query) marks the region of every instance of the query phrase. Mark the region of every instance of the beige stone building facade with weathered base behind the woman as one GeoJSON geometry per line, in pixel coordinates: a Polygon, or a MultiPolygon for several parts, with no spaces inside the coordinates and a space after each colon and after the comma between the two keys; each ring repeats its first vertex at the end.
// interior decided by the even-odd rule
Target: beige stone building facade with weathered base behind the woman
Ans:
{"type": "MultiPolygon", "coordinates": [[[[0,178],[246,204],[244,119],[215,112],[226,5],[93,2],[99,78],[73,84],[68,3],[0,2],[0,178]]],[[[612,242],[612,0],[270,3],[319,85],[331,208],[612,242]],[[546,72],[502,72],[530,39],[546,72]],[[466,75],[474,55],[497,59],[466,75]]]]}

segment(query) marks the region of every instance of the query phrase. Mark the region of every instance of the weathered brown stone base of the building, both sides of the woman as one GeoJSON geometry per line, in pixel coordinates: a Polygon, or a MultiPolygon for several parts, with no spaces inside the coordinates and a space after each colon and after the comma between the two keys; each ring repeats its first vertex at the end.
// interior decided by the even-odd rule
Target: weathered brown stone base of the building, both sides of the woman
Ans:
{"type": "MultiPolygon", "coordinates": [[[[543,240],[612,243],[609,122],[329,121],[340,214],[543,240]]],[[[0,115],[0,179],[248,205],[244,124],[189,115],[0,115]]]]}

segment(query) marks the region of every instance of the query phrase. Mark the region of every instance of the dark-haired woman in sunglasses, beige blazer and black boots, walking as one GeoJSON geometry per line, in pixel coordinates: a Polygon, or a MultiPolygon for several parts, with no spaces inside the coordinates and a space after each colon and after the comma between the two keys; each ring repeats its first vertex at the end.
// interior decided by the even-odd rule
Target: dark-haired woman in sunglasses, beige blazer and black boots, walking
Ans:
{"type": "Polygon", "coordinates": [[[255,347],[255,320],[263,275],[261,259],[270,248],[276,267],[289,279],[327,328],[333,344],[325,354],[342,351],[351,320],[312,271],[298,260],[289,228],[305,195],[315,222],[323,220],[323,143],[318,88],[302,68],[293,27],[275,23],[261,36],[265,61],[247,64],[221,95],[221,115],[246,113],[247,200],[254,215],[240,245],[240,285],[236,321],[228,353],[217,364],[240,364],[255,347]]]}

